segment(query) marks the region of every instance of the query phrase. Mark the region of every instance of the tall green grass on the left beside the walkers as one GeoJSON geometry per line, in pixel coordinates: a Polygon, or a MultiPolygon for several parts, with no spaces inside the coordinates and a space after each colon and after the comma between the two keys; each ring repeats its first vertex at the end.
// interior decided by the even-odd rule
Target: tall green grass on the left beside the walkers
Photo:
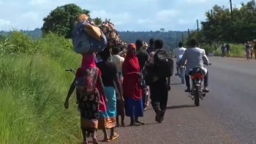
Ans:
{"type": "Polygon", "coordinates": [[[0,43],[0,143],[78,143],[75,100],[64,99],[80,56],[69,40],[54,34],[32,40],[14,31],[0,43]]]}

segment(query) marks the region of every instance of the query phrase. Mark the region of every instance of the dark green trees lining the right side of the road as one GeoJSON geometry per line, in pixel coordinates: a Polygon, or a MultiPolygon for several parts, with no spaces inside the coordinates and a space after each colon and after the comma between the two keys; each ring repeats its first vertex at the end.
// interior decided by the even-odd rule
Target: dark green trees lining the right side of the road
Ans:
{"type": "Polygon", "coordinates": [[[200,22],[199,33],[192,32],[200,43],[233,42],[245,43],[256,38],[256,4],[255,0],[241,3],[241,7],[232,5],[214,5],[206,13],[206,20],[200,22]],[[231,15],[232,14],[232,15],[231,15]]]}

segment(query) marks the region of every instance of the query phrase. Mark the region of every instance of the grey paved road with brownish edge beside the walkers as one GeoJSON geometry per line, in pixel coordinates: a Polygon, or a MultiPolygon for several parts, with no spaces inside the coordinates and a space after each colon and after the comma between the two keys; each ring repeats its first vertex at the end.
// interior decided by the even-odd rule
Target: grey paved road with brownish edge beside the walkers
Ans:
{"type": "MultiPolygon", "coordinates": [[[[116,129],[115,144],[254,144],[256,143],[256,60],[212,57],[211,92],[194,107],[178,77],[172,78],[165,123],[156,124],[149,107],[145,126],[116,129]],[[178,83],[178,84],[177,84],[178,83]]],[[[129,119],[127,118],[127,123],[129,119]]],[[[102,140],[102,132],[98,132],[102,140]]]]}

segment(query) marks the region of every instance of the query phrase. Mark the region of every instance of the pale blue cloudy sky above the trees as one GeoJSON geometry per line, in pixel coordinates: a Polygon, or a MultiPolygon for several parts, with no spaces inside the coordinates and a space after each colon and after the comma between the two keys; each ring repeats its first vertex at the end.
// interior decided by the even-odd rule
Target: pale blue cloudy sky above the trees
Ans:
{"type": "MultiPolygon", "coordinates": [[[[242,0],[233,0],[233,7],[242,0]]],[[[244,1],[245,3],[248,0],[244,1]]],[[[0,30],[42,27],[42,18],[64,4],[77,4],[91,11],[91,18],[110,18],[118,31],[187,31],[214,4],[229,0],[0,0],[0,30]]]]}

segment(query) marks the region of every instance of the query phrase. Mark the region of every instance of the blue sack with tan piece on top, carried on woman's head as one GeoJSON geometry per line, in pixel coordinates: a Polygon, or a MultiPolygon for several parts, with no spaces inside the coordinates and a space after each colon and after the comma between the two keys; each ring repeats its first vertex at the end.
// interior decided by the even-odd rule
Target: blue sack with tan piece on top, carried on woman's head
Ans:
{"type": "Polygon", "coordinates": [[[75,26],[72,31],[72,44],[75,53],[96,53],[105,49],[108,41],[105,34],[91,19],[75,26]]]}

